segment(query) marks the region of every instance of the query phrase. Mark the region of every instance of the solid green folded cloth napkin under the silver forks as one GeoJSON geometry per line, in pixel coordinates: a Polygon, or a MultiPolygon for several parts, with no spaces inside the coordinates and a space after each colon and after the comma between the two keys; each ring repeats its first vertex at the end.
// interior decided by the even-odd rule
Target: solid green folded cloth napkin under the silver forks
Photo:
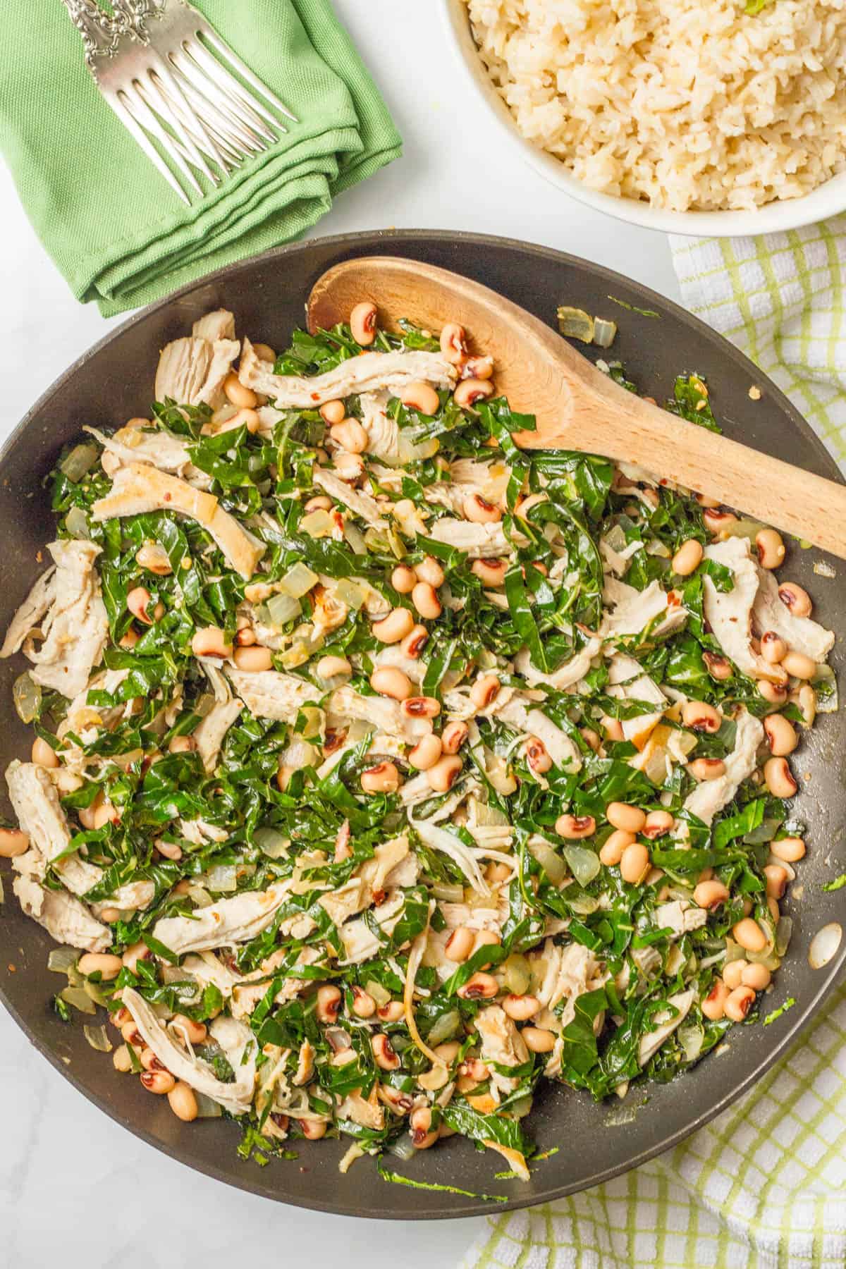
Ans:
{"type": "Polygon", "coordinates": [[[61,0],[0,4],[0,150],[74,294],[104,316],[297,237],[401,150],[330,0],[198,8],[299,122],[188,208],[100,96],[61,0]]]}

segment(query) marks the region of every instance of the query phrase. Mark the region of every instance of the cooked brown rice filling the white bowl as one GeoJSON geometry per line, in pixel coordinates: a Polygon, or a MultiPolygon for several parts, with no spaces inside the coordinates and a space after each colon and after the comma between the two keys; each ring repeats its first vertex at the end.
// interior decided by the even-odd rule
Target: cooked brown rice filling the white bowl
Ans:
{"type": "Polygon", "coordinates": [[[846,170],[845,0],[467,0],[534,145],[675,211],[799,198],[846,170]]]}

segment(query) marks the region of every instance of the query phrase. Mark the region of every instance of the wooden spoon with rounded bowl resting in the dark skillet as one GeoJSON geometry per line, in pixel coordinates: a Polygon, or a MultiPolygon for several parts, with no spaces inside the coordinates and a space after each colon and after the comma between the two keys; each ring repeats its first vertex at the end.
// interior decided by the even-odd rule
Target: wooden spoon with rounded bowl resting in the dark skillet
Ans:
{"type": "Polygon", "coordinates": [[[361,299],[378,306],[388,330],[396,330],[401,317],[433,331],[446,322],[463,326],[474,346],[493,357],[497,392],[538,421],[537,431],[515,433],[519,445],[635,463],[846,558],[846,486],[627,392],[542,321],[487,287],[419,260],[345,260],[315,284],[308,329],[348,321],[361,299]]]}

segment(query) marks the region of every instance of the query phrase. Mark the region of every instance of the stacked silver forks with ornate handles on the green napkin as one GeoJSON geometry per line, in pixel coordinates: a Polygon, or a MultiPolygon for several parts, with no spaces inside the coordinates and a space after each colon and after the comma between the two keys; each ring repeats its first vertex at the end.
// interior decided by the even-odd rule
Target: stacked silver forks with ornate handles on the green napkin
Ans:
{"type": "Polygon", "coordinates": [[[103,96],[183,202],[297,123],[186,0],[62,0],[103,96]]]}

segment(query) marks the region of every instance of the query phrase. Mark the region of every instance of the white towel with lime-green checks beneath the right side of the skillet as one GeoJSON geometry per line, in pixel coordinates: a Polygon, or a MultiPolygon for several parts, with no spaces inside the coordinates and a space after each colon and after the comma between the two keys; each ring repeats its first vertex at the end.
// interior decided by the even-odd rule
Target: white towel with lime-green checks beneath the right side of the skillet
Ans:
{"type": "MultiPolygon", "coordinates": [[[[846,468],[846,216],[671,242],[685,306],[788,393],[846,468]]],[[[846,987],[785,1061],[681,1146],[490,1225],[462,1269],[840,1269],[846,987]]]]}

